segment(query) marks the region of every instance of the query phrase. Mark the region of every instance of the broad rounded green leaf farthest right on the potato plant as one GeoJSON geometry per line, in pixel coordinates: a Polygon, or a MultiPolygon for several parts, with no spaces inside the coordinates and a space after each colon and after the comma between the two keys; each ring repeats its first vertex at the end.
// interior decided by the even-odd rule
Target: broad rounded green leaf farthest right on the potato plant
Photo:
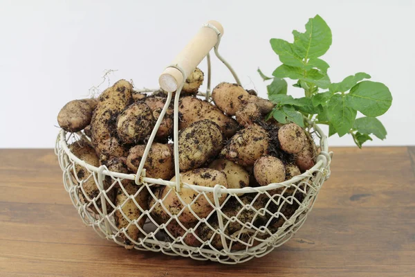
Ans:
{"type": "Polygon", "coordinates": [[[376,117],[391,107],[392,95],[381,82],[362,81],[347,93],[347,102],[365,116],[376,117]]]}

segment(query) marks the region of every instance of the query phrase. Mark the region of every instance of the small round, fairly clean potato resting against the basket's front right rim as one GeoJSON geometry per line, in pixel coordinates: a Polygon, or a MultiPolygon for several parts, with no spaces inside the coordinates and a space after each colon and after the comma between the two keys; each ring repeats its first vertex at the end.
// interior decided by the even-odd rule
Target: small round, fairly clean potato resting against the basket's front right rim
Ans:
{"type": "Polygon", "coordinates": [[[268,186],[284,181],[286,170],[281,160],[272,156],[263,156],[255,161],[254,175],[261,186],[268,186]]]}

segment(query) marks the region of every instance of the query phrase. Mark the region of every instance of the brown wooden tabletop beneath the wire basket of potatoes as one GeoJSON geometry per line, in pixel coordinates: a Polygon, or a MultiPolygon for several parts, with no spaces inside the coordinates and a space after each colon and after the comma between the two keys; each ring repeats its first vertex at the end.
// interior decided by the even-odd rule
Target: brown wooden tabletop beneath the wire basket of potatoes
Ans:
{"type": "Polygon", "coordinates": [[[0,276],[415,276],[415,147],[331,150],[331,179],[302,229],[237,266],[102,240],[52,150],[0,150],[0,276]]]}

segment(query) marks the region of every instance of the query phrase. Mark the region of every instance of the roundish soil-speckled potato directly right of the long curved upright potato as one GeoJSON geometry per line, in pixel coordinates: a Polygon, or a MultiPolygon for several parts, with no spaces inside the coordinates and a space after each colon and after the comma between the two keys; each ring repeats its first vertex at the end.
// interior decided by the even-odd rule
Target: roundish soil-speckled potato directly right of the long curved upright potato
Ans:
{"type": "Polygon", "coordinates": [[[118,116],[118,138],[123,143],[144,141],[151,134],[155,123],[151,109],[145,103],[135,102],[118,116]]]}

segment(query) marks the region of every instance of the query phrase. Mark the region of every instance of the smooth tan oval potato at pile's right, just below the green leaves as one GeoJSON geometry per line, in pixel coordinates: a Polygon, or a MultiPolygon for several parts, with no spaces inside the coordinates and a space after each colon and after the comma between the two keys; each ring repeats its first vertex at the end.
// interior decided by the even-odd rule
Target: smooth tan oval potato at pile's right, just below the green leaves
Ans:
{"type": "Polygon", "coordinates": [[[306,134],[299,125],[288,123],[279,128],[278,140],[281,150],[289,154],[295,154],[306,145],[306,134]]]}

